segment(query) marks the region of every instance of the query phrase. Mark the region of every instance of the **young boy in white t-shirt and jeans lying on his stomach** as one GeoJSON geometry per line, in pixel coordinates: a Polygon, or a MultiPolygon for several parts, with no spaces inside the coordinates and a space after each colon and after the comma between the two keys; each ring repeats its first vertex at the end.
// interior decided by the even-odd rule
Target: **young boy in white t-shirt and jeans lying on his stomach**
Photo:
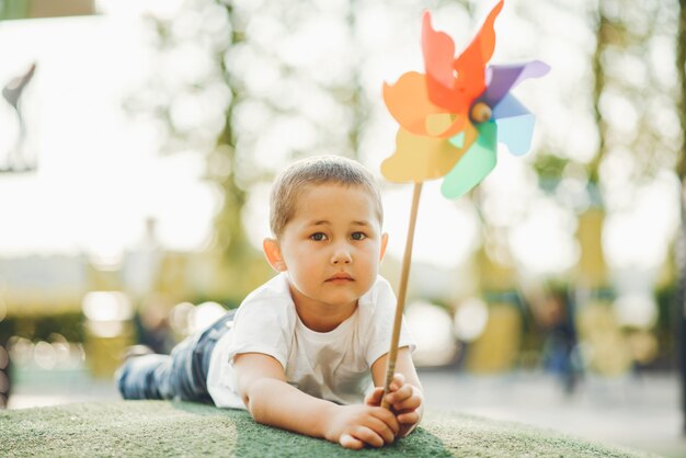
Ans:
{"type": "Polygon", "coordinates": [[[279,274],[170,356],[129,358],[117,373],[122,396],[247,409],[259,423],[346,448],[408,435],[423,396],[404,323],[392,409],[380,407],[396,308],[378,275],[382,219],[376,182],[357,162],[289,167],[272,188],[273,238],[263,243],[279,274]]]}

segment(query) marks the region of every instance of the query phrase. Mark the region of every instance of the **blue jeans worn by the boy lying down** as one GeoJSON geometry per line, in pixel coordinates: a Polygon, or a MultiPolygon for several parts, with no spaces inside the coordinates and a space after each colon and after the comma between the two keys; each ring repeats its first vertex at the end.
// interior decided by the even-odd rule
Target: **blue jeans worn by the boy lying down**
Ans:
{"type": "Polygon", "coordinates": [[[179,343],[171,355],[144,355],[126,360],[115,375],[124,399],[176,399],[211,403],[207,370],[211,351],[229,330],[236,310],[179,343]]]}

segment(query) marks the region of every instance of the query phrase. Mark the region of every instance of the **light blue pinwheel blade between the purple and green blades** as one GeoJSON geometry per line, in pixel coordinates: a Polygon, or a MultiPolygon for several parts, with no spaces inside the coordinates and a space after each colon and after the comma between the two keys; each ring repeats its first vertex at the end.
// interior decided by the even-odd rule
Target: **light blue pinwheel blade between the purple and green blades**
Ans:
{"type": "Polygon", "coordinates": [[[531,147],[536,117],[514,96],[507,94],[493,110],[498,124],[498,141],[514,156],[526,154],[531,147]]]}

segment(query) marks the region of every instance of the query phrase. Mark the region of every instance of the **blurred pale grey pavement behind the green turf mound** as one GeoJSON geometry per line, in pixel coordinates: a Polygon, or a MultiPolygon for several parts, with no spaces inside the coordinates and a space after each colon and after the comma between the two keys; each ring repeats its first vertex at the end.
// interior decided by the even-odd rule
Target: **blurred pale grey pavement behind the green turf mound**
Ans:
{"type": "MultiPolygon", "coordinates": [[[[484,377],[445,368],[421,370],[420,377],[432,412],[517,422],[610,446],[686,456],[675,374],[586,377],[571,394],[547,374],[484,377]]],[[[110,380],[92,380],[79,371],[53,377],[24,374],[21,381],[10,398],[10,409],[118,399],[110,380]]]]}

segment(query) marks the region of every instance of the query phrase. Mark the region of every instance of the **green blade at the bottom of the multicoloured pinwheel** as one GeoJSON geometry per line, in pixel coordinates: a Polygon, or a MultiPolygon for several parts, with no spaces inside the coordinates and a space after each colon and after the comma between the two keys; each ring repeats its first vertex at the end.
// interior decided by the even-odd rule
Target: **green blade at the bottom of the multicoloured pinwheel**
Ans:
{"type": "Polygon", "coordinates": [[[495,168],[498,127],[490,121],[477,126],[477,141],[445,175],[441,192],[448,198],[466,194],[495,168]]]}

